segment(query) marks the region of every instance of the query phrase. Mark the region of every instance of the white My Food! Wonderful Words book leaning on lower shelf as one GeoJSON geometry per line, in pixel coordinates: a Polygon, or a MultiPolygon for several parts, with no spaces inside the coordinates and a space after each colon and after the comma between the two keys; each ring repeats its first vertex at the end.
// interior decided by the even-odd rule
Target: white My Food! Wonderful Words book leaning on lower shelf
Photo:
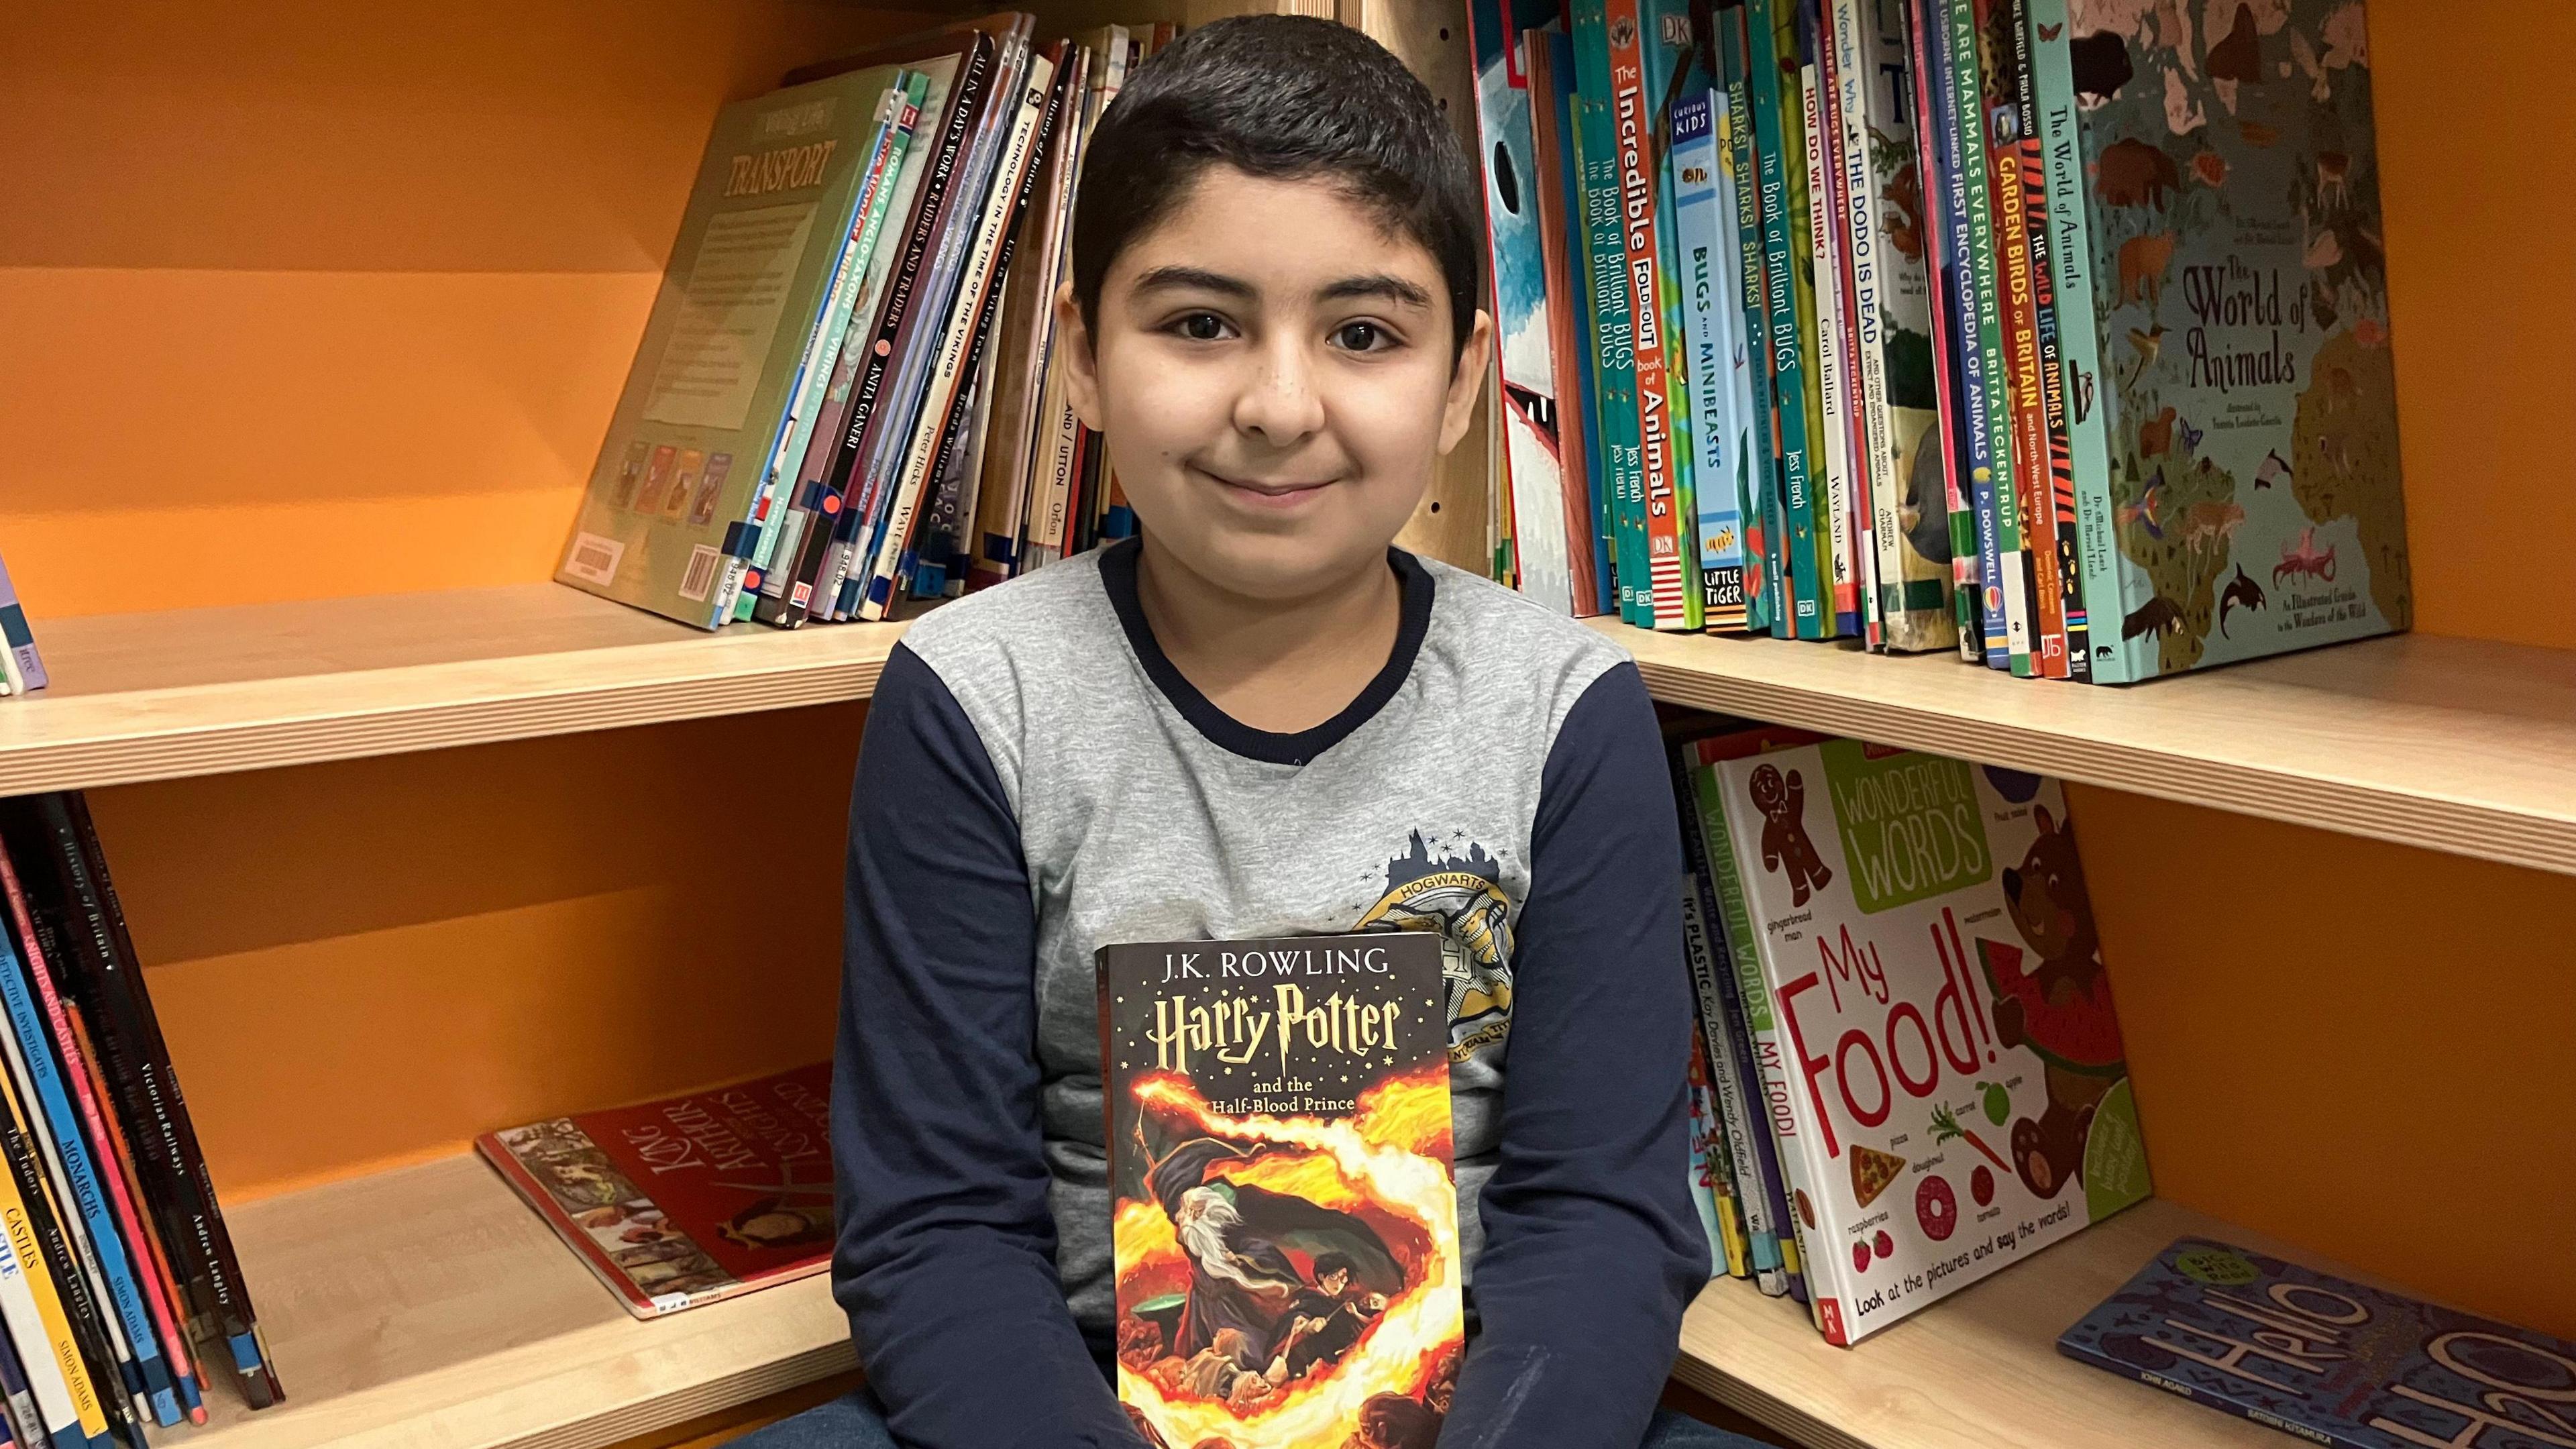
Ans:
{"type": "Polygon", "coordinates": [[[1832,1343],[2148,1194],[2053,779],[1860,740],[1718,773],[1832,1343]]]}

